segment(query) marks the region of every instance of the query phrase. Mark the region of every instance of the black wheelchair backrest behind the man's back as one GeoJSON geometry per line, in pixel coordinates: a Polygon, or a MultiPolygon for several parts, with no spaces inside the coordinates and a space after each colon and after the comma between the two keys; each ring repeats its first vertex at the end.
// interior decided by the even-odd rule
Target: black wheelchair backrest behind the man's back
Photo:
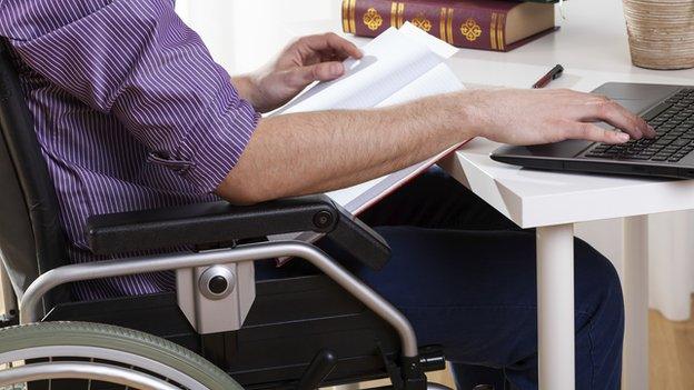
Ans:
{"type": "MultiPolygon", "coordinates": [[[[0,38],[0,252],[16,293],[66,262],[59,204],[9,43],[0,38]]],[[[66,301],[68,289],[47,296],[66,301]]]]}

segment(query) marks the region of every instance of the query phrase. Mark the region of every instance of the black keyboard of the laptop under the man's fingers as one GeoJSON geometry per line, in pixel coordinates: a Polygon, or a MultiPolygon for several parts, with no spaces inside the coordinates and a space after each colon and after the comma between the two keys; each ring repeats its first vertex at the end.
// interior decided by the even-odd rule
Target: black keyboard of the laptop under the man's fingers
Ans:
{"type": "Polygon", "coordinates": [[[656,138],[623,144],[597,143],[585,157],[678,162],[694,151],[694,88],[680,90],[654,111],[660,113],[644,119],[655,129],[656,138]]]}

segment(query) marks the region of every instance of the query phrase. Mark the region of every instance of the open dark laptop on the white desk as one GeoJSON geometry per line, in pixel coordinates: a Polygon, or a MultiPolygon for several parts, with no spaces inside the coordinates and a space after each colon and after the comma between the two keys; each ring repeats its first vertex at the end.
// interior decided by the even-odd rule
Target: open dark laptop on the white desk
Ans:
{"type": "Polygon", "coordinates": [[[694,178],[694,87],[611,82],[593,92],[640,113],[657,137],[619,146],[578,140],[506,146],[494,151],[492,159],[554,171],[694,178]]]}

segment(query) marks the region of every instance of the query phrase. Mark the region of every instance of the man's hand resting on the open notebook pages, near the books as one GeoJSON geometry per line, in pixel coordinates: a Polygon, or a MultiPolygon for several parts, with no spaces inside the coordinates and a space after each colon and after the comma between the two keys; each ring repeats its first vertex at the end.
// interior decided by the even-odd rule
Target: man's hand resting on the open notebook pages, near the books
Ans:
{"type": "Polygon", "coordinates": [[[267,112],[281,107],[314,81],[343,76],[343,61],[349,57],[361,58],[361,51],[335,33],[304,37],[259,71],[235,78],[234,84],[256,110],[267,112]]]}

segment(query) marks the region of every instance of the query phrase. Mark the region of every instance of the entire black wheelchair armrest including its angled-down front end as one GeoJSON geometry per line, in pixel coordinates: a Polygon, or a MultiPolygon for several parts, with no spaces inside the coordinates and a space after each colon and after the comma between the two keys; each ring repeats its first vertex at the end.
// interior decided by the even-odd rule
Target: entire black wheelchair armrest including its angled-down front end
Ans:
{"type": "Polygon", "coordinates": [[[87,237],[95,254],[206,246],[313,231],[356,260],[380,269],[390,258],[386,241],[326,196],[289,198],[254,206],[198,203],[95,216],[87,237]]]}

